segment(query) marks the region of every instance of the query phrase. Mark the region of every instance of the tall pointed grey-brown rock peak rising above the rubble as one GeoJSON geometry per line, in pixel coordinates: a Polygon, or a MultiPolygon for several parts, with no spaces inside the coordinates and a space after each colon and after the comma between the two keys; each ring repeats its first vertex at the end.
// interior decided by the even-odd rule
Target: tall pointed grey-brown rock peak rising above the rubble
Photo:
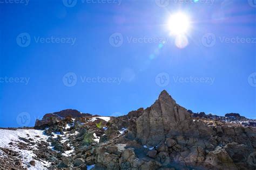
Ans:
{"type": "Polygon", "coordinates": [[[136,138],[143,145],[156,146],[173,136],[211,136],[213,131],[203,122],[194,122],[187,109],[180,107],[162,91],[158,100],[144,110],[136,121],[136,138]]]}

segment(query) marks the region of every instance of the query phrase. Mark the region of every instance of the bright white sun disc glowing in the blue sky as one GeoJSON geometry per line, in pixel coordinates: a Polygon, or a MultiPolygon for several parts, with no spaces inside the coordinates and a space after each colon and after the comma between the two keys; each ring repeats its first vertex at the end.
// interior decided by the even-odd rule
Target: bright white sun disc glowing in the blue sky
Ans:
{"type": "Polygon", "coordinates": [[[184,13],[175,13],[168,20],[168,29],[172,35],[184,35],[190,29],[190,18],[184,13]]]}

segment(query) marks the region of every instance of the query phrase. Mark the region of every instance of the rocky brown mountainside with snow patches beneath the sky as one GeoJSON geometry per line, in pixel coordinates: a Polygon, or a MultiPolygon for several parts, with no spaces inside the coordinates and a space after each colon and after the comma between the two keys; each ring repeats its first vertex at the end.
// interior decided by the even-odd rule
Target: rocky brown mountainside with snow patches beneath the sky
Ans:
{"type": "Polygon", "coordinates": [[[125,116],[63,110],[0,138],[3,169],[256,169],[255,127],[197,116],[165,90],[125,116]]]}

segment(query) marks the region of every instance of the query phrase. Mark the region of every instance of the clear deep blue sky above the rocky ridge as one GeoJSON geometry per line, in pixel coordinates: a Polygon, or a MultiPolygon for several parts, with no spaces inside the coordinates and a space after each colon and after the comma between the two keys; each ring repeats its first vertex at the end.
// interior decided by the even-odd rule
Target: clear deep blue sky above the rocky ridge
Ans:
{"type": "Polygon", "coordinates": [[[253,0],[0,2],[0,127],[127,114],[163,89],[194,112],[256,117],[253,0]],[[182,48],[166,26],[178,11],[191,19],[182,48]]]}

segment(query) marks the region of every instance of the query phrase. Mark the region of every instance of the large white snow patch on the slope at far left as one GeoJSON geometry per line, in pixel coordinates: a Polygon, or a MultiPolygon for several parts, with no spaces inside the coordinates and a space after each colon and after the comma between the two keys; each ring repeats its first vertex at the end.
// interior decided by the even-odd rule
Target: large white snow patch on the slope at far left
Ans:
{"type": "MultiPolygon", "coordinates": [[[[29,165],[29,162],[31,160],[35,160],[35,159],[33,159],[33,157],[36,157],[36,155],[33,153],[32,150],[35,150],[36,145],[28,146],[31,148],[31,150],[19,149],[18,146],[15,145],[15,143],[17,143],[17,141],[19,141],[21,143],[25,143],[23,140],[19,139],[19,137],[26,138],[26,139],[31,138],[31,139],[33,139],[34,142],[37,142],[40,140],[46,141],[46,139],[48,137],[45,136],[43,134],[43,131],[41,131],[41,130],[33,130],[33,129],[5,130],[5,129],[0,129],[0,147],[9,148],[10,150],[19,152],[19,154],[22,155],[23,164],[29,165]],[[29,136],[28,136],[28,134],[29,134],[29,136]],[[10,142],[14,143],[14,145],[9,145],[10,142]]],[[[0,155],[0,157],[1,157],[1,155],[0,155]]],[[[46,162],[43,160],[41,160],[41,161],[35,160],[35,161],[36,161],[36,166],[31,166],[28,169],[47,169],[45,167],[50,166],[50,162],[46,162]]]]}

